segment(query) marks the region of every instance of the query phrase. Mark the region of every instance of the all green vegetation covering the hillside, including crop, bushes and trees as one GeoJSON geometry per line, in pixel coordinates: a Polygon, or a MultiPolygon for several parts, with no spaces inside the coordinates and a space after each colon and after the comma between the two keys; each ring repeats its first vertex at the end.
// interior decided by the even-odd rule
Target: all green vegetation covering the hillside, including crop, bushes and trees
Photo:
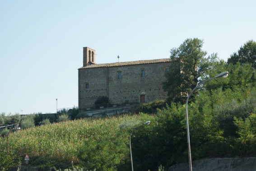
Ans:
{"type": "Polygon", "coordinates": [[[163,85],[169,95],[167,102],[145,103],[133,113],[112,117],[88,118],[77,109],[51,118],[40,114],[0,115],[0,124],[20,123],[22,128],[10,134],[8,130],[0,133],[0,170],[19,165],[21,157],[28,153],[29,165],[42,169],[64,169],[73,163],[88,170],[130,171],[131,133],[134,170],[162,171],[163,166],[188,162],[184,94],[198,81],[224,71],[229,73],[227,78],[200,86],[188,103],[192,160],[255,157],[256,76],[255,63],[248,61],[255,62],[251,54],[256,54],[256,42],[247,42],[228,63],[217,60],[216,54],[203,58],[206,54],[201,51],[202,42],[188,39],[172,49],[171,57],[182,61],[177,68],[183,67],[186,72],[174,69],[166,73],[163,85]],[[195,60],[192,67],[191,60],[195,60]],[[150,125],[141,126],[145,121],[151,121],[150,125]],[[37,124],[42,125],[35,127],[37,124]]]}

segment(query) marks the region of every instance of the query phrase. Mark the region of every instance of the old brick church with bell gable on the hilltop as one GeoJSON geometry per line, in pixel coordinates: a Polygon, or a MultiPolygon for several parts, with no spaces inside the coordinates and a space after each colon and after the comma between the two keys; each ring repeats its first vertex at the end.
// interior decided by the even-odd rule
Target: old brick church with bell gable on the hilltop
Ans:
{"type": "Polygon", "coordinates": [[[95,50],[84,47],[83,67],[78,69],[79,108],[94,106],[107,96],[109,103],[144,103],[167,99],[162,82],[170,58],[96,64],[95,50]]]}

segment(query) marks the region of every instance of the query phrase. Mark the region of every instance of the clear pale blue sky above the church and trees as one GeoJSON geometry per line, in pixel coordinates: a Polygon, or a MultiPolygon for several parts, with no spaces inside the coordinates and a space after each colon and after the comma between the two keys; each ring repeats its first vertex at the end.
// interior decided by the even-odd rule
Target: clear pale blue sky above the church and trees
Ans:
{"type": "Polygon", "coordinates": [[[255,0],[0,0],[0,113],[78,105],[83,47],[96,63],[169,58],[186,38],[227,61],[256,41],[255,0]]]}

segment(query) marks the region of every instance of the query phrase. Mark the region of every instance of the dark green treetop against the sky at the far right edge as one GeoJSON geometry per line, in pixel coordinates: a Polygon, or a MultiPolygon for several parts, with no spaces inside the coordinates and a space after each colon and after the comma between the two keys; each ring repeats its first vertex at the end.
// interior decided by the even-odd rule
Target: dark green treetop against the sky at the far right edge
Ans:
{"type": "Polygon", "coordinates": [[[238,52],[234,52],[228,58],[228,64],[236,63],[251,63],[253,68],[256,68],[256,42],[253,40],[247,41],[240,47],[238,52]]]}

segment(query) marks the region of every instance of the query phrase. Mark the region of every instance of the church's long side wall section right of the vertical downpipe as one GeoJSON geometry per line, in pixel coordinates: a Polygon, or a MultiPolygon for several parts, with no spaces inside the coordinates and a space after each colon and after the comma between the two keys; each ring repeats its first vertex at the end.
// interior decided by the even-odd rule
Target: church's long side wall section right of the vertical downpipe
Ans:
{"type": "Polygon", "coordinates": [[[145,95],[145,102],[155,99],[166,99],[167,92],[163,91],[165,81],[164,67],[168,63],[154,63],[109,69],[109,99],[112,103],[140,102],[140,95],[145,95]],[[144,70],[145,76],[141,76],[144,70]],[[122,79],[117,79],[121,71],[122,79]]]}

